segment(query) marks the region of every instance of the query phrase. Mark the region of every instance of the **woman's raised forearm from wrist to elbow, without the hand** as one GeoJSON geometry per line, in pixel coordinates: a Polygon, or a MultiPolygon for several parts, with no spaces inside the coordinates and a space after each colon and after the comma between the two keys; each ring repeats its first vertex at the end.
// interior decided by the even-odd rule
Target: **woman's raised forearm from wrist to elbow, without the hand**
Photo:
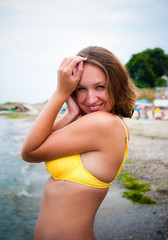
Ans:
{"type": "Polygon", "coordinates": [[[31,152],[40,147],[53,131],[53,124],[66,98],[56,90],[37,117],[22,148],[21,155],[25,161],[27,161],[27,157],[31,156],[31,152]]]}

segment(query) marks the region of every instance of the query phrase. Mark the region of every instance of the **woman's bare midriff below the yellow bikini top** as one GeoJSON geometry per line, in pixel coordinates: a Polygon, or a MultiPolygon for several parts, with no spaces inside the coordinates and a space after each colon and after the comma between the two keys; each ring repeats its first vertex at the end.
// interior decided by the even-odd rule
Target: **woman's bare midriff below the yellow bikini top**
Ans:
{"type": "Polygon", "coordinates": [[[95,240],[94,218],[108,188],[50,177],[43,194],[34,240],[95,240]]]}

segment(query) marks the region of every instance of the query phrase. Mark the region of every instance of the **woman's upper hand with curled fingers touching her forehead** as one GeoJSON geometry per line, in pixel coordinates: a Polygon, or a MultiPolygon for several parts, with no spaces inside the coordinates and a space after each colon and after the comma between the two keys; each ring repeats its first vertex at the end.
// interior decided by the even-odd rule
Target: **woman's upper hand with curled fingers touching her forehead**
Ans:
{"type": "Polygon", "coordinates": [[[63,59],[58,68],[57,82],[57,89],[63,94],[63,96],[68,98],[76,89],[83,73],[83,61],[86,60],[87,58],[80,56],[63,59]]]}

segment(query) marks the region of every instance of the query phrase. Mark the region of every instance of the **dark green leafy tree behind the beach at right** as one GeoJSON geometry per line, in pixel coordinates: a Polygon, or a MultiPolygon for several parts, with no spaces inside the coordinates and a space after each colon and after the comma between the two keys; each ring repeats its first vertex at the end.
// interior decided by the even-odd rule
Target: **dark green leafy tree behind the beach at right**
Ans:
{"type": "Polygon", "coordinates": [[[148,48],[133,54],[126,67],[139,88],[167,85],[165,77],[168,77],[168,55],[161,48],[148,48]]]}

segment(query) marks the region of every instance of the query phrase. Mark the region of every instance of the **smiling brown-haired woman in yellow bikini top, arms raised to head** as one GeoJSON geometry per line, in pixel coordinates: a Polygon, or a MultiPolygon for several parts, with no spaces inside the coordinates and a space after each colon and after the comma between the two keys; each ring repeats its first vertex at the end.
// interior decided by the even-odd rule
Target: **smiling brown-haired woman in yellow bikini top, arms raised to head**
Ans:
{"type": "Polygon", "coordinates": [[[22,158],[51,173],[35,240],[95,239],[96,212],[128,152],[122,117],[132,116],[134,85],[107,49],[88,47],[65,58],[57,88],[31,128],[22,158]],[[57,121],[64,102],[68,113],[57,121]]]}

